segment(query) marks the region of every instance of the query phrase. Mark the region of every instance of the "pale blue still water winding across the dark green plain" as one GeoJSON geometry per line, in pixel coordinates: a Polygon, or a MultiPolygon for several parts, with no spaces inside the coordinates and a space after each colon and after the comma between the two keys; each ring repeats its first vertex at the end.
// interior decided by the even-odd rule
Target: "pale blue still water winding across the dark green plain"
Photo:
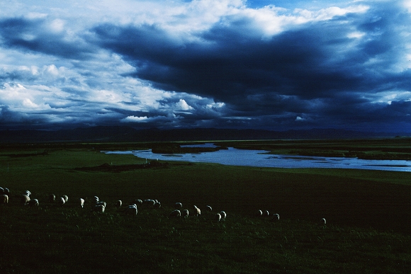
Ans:
{"type": "MultiPolygon", "coordinates": [[[[205,144],[203,147],[213,147],[205,144]]],[[[181,146],[184,147],[184,146],[181,146]]],[[[195,147],[195,146],[188,146],[195,147]]],[[[266,154],[264,150],[220,149],[217,152],[198,154],[154,154],[151,150],[133,152],[105,152],[107,154],[133,154],[142,159],[165,161],[191,161],[230,166],[259,166],[276,168],[324,168],[324,169],[371,169],[384,171],[411,171],[411,161],[406,160],[362,160],[356,158],[292,156],[266,154]]]]}

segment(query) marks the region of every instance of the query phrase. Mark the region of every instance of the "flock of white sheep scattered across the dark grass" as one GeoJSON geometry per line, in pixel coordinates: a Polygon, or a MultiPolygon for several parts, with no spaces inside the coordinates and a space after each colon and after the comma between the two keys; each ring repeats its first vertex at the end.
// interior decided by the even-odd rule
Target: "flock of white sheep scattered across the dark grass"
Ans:
{"type": "MultiPolygon", "coordinates": [[[[10,190],[9,188],[1,188],[0,187],[0,204],[7,204],[9,202],[9,195],[10,195],[10,190]]],[[[30,191],[26,190],[25,193],[21,195],[21,203],[23,205],[29,205],[31,207],[38,207],[39,201],[38,199],[31,199],[30,198],[30,191]]],[[[50,194],[49,201],[50,202],[55,202],[57,205],[64,205],[67,201],[69,200],[67,195],[62,195],[60,198],[56,198],[54,194],[50,194]]],[[[84,202],[86,200],[84,198],[79,198],[78,200],[78,205],[79,207],[83,208],[84,207],[84,202]]],[[[91,211],[94,212],[100,212],[103,213],[106,210],[107,203],[101,201],[97,196],[94,196],[91,198],[91,211]]],[[[118,200],[115,204],[115,207],[122,207],[123,202],[121,200],[118,200]]],[[[152,208],[159,208],[161,207],[161,203],[158,200],[152,200],[152,199],[146,199],[146,200],[133,200],[130,205],[125,207],[124,212],[125,214],[129,215],[137,215],[138,212],[138,207],[140,206],[147,206],[147,207],[152,207],[152,208]]],[[[185,209],[183,210],[183,204],[181,202],[176,202],[174,204],[174,210],[172,210],[169,214],[170,218],[174,217],[188,217],[190,215],[190,211],[185,209]]],[[[205,210],[207,212],[212,212],[213,209],[210,207],[210,205],[207,205],[205,207],[205,210]]],[[[196,205],[193,205],[193,208],[191,210],[191,215],[193,216],[201,216],[201,210],[198,208],[196,205]]],[[[258,210],[256,213],[257,217],[271,217],[272,221],[279,221],[280,220],[280,215],[278,213],[270,215],[268,210],[258,210]]],[[[214,215],[214,220],[215,222],[220,222],[220,221],[225,221],[225,218],[227,217],[227,214],[224,211],[220,211],[214,215]]],[[[320,219],[320,224],[325,225],[326,220],[325,218],[320,219]]]]}

